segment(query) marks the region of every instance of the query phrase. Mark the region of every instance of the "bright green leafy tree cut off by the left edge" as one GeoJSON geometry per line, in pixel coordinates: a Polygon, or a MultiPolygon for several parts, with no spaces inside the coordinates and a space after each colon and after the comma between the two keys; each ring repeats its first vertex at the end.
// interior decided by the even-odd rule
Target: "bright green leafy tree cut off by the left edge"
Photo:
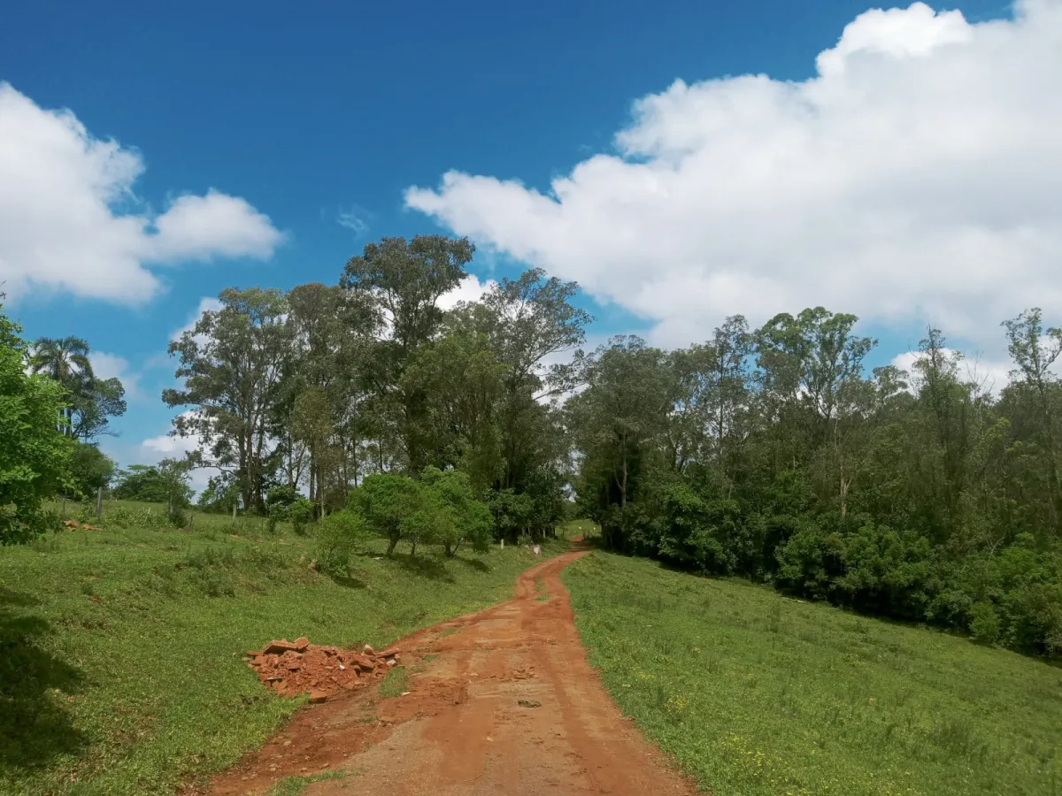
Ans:
{"type": "Polygon", "coordinates": [[[0,544],[46,529],[42,503],[64,485],[71,449],[59,431],[66,419],[63,387],[25,373],[20,332],[0,308],[0,544]]]}

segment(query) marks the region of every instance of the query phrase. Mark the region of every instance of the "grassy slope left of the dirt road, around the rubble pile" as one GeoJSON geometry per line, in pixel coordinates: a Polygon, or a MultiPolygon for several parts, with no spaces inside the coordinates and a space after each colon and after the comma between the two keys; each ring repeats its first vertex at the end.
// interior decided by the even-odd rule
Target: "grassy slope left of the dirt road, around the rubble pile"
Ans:
{"type": "Polygon", "coordinates": [[[312,540],[290,529],[241,519],[232,535],[208,515],[193,529],[62,532],[0,549],[0,793],[195,783],[298,704],[259,686],[245,650],[298,636],[383,645],[508,599],[534,563],[511,546],[445,560],[387,559],[378,544],[336,581],[310,569],[312,540]]]}

